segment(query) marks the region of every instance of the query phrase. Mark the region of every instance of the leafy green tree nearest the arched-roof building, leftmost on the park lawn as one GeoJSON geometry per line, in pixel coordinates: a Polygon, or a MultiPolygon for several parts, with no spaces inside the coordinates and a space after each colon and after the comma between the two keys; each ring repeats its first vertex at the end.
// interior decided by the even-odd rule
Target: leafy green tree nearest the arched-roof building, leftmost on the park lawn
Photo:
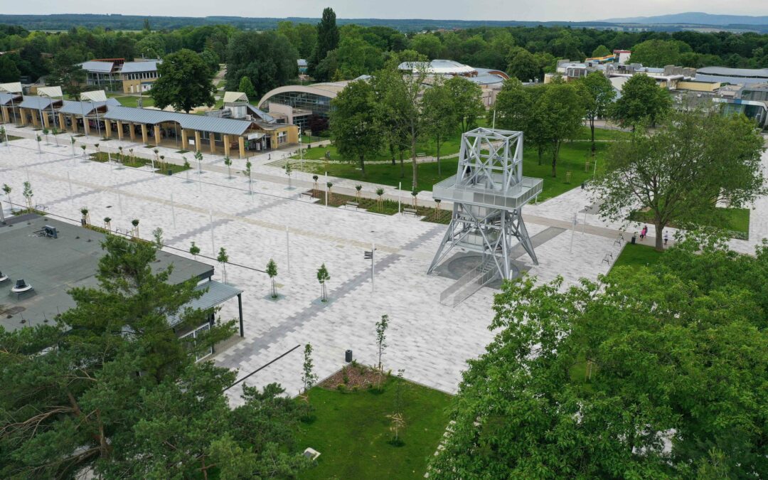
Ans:
{"type": "Polygon", "coordinates": [[[366,174],[366,155],[382,146],[382,128],[376,118],[376,100],[371,84],[353,81],[331,101],[330,133],[344,160],[359,161],[366,174]]]}

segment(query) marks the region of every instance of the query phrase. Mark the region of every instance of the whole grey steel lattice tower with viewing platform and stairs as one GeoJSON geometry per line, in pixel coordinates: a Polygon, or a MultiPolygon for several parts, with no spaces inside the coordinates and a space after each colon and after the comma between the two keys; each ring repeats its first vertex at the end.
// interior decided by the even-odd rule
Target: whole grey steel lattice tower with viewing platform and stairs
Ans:
{"type": "Polygon", "coordinates": [[[521,131],[481,127],[462,135],[455,176],[432,188],[432,197],[453,202],[453,216],[427,273],[454,247],[481,253],[482,263],[444,295],[456,293],[467,283],[477,286],[471,295],[496,278],[511,279],[513,241],[538,265],[521,210],[541,193],[543,180],[523,177],[522,159],[521,131]]]}

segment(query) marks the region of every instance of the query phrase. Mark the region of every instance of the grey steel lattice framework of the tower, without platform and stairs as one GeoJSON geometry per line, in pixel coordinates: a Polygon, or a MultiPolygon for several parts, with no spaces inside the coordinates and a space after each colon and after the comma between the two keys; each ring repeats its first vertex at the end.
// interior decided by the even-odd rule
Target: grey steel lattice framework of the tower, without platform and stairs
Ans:
{"type": "MultiPolygon", "coordinates": [[[[455,191],[471,190],[494,197],[512,195],[512,187],[522,182],[523,134],[520,131],[476,128],[462,135],[455,191]]],[[[501,278],[514,272],[511,262],[513,239],[538,265],[536,253],[522,218],[522,207],[505,208],[475,204],[466,195],[451,195],[453,214],[440,247],[427,273],[438,266],[454,248],[469,248],[482,253],[483,262],[492,263],[501,278]]],[[[441,199],[449,200],[449,199],[441,199]]]]}

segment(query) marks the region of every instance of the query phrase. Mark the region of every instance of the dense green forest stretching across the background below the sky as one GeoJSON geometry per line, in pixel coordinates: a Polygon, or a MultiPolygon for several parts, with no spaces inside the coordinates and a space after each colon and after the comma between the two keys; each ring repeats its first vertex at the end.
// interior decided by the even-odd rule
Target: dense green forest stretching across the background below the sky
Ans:
{"type": "MultiPolygon", "coordinates": [[[[276,34],[275,38],[263,41],[277,45],[263,55],[261,61],[266,61],[263,65],[280,63],[278,55],[314,58],[314,65],[310,61],[310,70],[320,81],[369,74],[395,55],[405,60],[415,55],[447,58],[474,67],[502,69],[528,80],[531,75],[541,77],[551,71],[558,58],[583,60],[606,55],[617,48],[632,50],[633,61],[651,67],[670,64],[693,68],[768,67],[768,34],[752,32],[630,32],[539,25],[403,33],[380,25],[347,24],[339,25],[334,48],[323,50],[322,58],[316,58],[318,30],[313,23],[281,21],[273,22],[266,31],[245,31],[237,18],[219,18],[220,23],[216,25],[181,28],[162,22],[155,24],[156,18],[143,18],[141,30],[126,31],[121,29],[124,17],[111,15],[111,18],[115,22],[111,28],[89,28],[88,22],[84,22],[83,26],[66,31],[31,31],[18,25],[0,24],[0,51],[5,52],[0,56],[0,81],[15,81],[19,76],[36,81],[65,65],[93,58],[162,58],[182,48],[204,55],[209,65],[237,64],[238,59],[230,55],[248,48],[233,45],[233,39],[250,38],[243,37],[243,33],[276,34]],[[291,51],[286,52],[286,46],[291,51]]],[[[342,23],[339,20],[339,24],[342,23]]],[[[253,80],[269,76],[271,70],[275,68],[262,67],[261,71],[266,73],[253,74],[253,80]]],[[[291,72],[289,76],[295,78],[295,75],[291,72]]],[[[274,78],[284,76],[274,75],[274,78]]]]}

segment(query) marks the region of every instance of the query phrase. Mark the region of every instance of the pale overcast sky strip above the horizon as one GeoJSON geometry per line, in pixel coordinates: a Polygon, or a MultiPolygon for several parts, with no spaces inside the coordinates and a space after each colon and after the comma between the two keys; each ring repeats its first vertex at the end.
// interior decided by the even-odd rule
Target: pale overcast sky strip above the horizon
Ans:
{"type": "Polygon", "coordinates": [[[204,17],[319,17],[332,7],[338,18],[438,18],[461,20],[598,20],[707,12],[768,15],[766,0],[0,0],[7,14],[120,13],[204,17]]]}

